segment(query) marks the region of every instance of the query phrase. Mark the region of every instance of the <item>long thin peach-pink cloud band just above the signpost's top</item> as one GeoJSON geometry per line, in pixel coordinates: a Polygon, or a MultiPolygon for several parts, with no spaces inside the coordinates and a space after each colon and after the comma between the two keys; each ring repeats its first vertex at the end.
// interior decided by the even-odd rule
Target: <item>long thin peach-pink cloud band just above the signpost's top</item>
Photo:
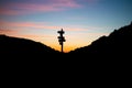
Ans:
{"type": "Polygon", "coordinates": [[[46,22],[8,22],[8,21],[0,21],[0,24],[4,28],[14,28],[14,29],[36,29],[36,30],[58,30],[64,29],[66,31],[86,31],[88,29],[81,28],[73,28],[73,26],[59,26],[59,25],[51,25],[46,22]]]}

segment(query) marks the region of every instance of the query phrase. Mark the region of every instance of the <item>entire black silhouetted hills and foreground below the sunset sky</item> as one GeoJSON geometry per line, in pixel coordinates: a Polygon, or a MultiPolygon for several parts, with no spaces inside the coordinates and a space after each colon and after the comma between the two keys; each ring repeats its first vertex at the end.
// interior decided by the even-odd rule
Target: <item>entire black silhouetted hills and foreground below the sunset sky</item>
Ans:
{"type": "MultiPolygon", "coordinates": [[[[109,36],[101,36],[91,45],[66,54],[31,40],[0,35],[2,81],[15,79],[29,84],[29,80],[45,80],[51,86],[58,80],[57,85],[67,81],[78,86],[87,80],[103,80],[101,84],[107,85],[109,80],[109,85],[113,81],[121,85],[118,82],[131,80],[128,79],[131,76],[131,59],[132,24],[114,30],[109,36]]],[[[13,84],[16,85],[15,82],[13,84]]],[[[63,86],[67,86],[67,82],[63,86]]]]}

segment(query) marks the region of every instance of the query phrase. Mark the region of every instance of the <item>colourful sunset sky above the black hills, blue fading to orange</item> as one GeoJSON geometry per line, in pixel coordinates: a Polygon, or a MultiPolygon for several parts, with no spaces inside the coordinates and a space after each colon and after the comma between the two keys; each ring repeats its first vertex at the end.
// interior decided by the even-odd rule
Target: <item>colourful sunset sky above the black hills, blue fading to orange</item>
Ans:
{"type": "Polygon", "coordinates": [[[89,45],[130,24],[132,0],[0,0],[0,34],[30,38],[61,51],[89,45]]]}

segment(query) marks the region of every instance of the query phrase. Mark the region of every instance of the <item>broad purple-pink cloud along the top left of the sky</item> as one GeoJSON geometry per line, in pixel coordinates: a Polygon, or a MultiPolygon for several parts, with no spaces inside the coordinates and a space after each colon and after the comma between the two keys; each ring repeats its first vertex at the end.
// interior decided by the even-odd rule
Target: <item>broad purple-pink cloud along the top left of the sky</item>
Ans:
{"type": "Polygon", "coordinates": [[[8,2],[0,6],[0,14],[20,15],[36,12],[63,11],[69,8],[79,8],[75,0],[44,0],[38,2],[8,2]]]}

